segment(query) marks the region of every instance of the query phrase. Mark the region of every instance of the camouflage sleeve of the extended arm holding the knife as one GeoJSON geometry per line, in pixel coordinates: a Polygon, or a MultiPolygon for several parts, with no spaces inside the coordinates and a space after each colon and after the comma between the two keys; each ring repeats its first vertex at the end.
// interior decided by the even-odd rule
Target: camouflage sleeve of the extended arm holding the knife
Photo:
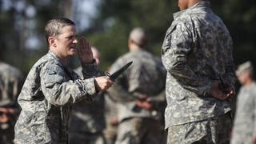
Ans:
{"type": "Polygon", "coordinates": [[[57,64],[48,64],[40,72],[42,93],[54,106],[63,106],[86,99],[94,99],[94,78],[70,80],[57,64]]]}

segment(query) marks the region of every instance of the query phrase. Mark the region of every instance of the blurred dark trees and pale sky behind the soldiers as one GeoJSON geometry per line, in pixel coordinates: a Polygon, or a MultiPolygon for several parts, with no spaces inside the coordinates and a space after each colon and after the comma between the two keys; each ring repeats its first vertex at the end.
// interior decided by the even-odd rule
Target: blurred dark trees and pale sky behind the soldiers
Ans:
{"type": "MultiPolygon", "coordinates": [[[[212,0],[234,40],[236,65],[256,62],[256,1],[212,0]]],[[[51,18],[66,17],[77,25],[78,35],[102,54],[101,69],[107,70],[128,51],[127,40],[134,26],[149,34],[148,50],[160,56],[166,30],[178,11],[178,0],[0,0],[0,58],[26,75],[48,47],[43,29],[51,18]]],[[[76,58],[70,63],[78,66],[76,58]]]]}

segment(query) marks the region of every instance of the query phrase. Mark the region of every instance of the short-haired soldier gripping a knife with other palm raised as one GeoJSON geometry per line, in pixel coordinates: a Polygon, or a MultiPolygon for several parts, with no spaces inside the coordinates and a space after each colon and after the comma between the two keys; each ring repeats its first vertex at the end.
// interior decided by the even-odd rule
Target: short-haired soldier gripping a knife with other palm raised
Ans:
{"type": "Polygon", "coordinates": [[[45,32],[49,52],[31,68],[18,96],[22,111],[15,124],[14,143],[68,143],[71,106],[94,101],[99,91],[114,83],[99,76],[89,42],[81,38],[77,46],[70,19],[51,19],[45,32]],[[67,66],[77,52],[83,78],[67,66]]]}

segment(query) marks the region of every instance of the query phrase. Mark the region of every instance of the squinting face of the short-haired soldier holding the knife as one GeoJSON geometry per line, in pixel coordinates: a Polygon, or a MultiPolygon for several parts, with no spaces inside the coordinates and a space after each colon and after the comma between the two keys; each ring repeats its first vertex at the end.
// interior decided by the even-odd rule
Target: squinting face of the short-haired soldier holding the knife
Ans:
{"type": "Polygon", "coordinates": [[[56,51],[60,58],[66,58],[77,53],[78,39],[74,26],[64,26],[61,31],[55,38],[56,51]]]}

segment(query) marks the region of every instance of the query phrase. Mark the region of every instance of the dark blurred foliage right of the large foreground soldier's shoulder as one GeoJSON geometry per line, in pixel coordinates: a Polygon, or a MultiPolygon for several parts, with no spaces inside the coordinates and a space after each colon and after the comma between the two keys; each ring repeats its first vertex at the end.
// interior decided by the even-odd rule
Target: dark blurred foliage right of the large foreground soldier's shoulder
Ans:
{"type": "Polygon", "coordinates": [[[213,9],[223,19],[234,41],[234,62],[256,64],[256,1],[213,1],[213,9]]]}

